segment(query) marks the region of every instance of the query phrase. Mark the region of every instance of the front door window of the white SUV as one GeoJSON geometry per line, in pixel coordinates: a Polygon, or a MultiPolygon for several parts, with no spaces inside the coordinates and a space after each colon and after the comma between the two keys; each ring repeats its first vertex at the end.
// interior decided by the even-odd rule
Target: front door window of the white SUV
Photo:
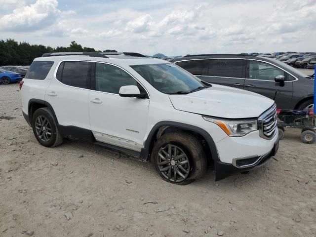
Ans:
{"type": "Polygon", "coordinates": [[[95,90],[118,94],[124,85],[137,85],[137,81],[116,66],[96,63],[95,90]]]}

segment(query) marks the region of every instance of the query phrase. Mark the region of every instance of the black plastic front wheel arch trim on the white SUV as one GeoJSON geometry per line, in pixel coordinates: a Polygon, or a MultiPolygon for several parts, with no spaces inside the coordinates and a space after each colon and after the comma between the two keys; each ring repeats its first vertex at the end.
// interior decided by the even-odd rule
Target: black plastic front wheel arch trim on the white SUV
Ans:
{"type": "Polygon", "coordinates": [[[153,149],[156,139],[160,137],[162,134],[164,134],[164,132],[167,131],[168,129],[170,129],[170,131],[172,131],[172,129],[181,129],[184,131],[193,132],[197,134],[197,136],[199,136],[200,138],[206,141],[211,158],[213,158],[214,161],[219,160],[215,142],[208,132],[206,132],[204,129],[200,127],[197,127],[191,124],[174,122],[174,121],[160,121],[151,129],[146,139],[145,146],[141,151],[142,159],[144,160],[148,159],[149,155],[151,154],[151,151],[153,149]]]}

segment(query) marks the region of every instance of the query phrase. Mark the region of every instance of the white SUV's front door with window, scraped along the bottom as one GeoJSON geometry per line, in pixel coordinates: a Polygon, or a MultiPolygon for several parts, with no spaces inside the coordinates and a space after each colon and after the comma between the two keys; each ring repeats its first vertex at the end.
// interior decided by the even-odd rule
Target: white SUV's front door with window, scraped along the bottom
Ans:
{"type": "Polygon", "coordinates": [[[141,91],[144,88],[117,66],[95,63],[94,68],[89,114],[90,128],[95,139],[140,151],[144,147],[149,99],[121,97],[118,92],[124,85],[137,85],[141,91]]]}

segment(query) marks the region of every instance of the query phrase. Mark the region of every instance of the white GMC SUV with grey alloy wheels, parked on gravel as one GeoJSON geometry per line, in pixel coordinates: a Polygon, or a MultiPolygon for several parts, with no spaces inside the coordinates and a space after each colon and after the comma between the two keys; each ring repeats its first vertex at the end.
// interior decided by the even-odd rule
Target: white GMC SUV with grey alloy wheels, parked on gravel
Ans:
{"type": "Polygon", "coordinates": [[[220,180],[264,164],[278,148],[273,100],[140,54],[44,54],[20,90],[41,145],[85,139],[151,158],[171,183],[190,183],[212,164],[220,180]]]}

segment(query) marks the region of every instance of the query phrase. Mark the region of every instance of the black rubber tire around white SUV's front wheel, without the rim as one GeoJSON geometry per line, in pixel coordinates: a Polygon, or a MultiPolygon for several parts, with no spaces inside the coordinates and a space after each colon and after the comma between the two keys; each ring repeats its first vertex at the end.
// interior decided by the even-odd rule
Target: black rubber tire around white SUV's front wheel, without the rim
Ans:
{"type": "MultiPolygon", "coordinates": [[[[176,157],[180,157],[180,156],[176,156],[176,157]]],[[[151,155],[151,161],[154,167],[156,168],[156,170],[158,171],[159,175],[162,177],[162,179],[164,179],[167,182],[178,184],[178,185],[190,184],[194,180],[203,176],[207,170],[207,161],[206,161],[205,153],[203,151],[202,144],[194,135],[190,133],[186,133],[186,132],[167,133],[161,136],[154,145],[152,155],[151,155]],[[183,179],[183,177],[179,177],[176,179],[172,177],[168,179],[169,176],[168,177],[166,176],[169,174],[168,173],[169,170],[168,171],[166,170],[165,172],[161,172],[159,169],[159,167],[161,168],[162,166],[158,165],[159,159],[161,159],[158,153],[159,151],[161,151],[160,149],[164,149],[169,144],[171,146],[175,146],[178,149],[180,149],[180,152],[183,152],[189,161],[188,162],[189,167],[188,166],[186,167],[188,168],[189,172],[186,174],[187,177],[185,179],[183,179]]],[[[184,161],[180,160],[179,163],[181,162],[184,162],[184,161]]],[[[172,166],[172,163],[170,161],[169,164],[165,164],[165,165],[172,166]]],[[[175,166],[172,166],[173,167],[172,170],[174,171],[176,169],[175,167],[177,166],[177,164],[173,164],[173,165],[175,165],[175,166]]],[[[182,167],[182,164],[180,166],[182,167]]],[[[181,169],[179,169],[179,166],[178,166],[178,170],[182,171],[181,169]]],[[[170,171],[170,172],[173,172],[173,171],[170,171]]]]}

